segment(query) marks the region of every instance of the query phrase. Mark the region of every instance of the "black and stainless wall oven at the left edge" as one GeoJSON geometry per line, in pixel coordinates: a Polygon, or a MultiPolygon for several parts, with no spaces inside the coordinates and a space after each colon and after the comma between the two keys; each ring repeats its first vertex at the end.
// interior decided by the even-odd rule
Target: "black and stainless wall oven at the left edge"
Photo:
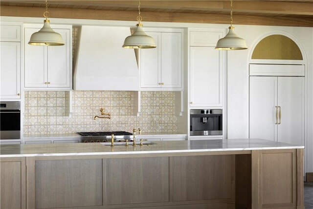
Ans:
{"type": "Polygon", "coordinates": [[[21,139],[21,102],[0,102],[0,139],[21,139]]]}

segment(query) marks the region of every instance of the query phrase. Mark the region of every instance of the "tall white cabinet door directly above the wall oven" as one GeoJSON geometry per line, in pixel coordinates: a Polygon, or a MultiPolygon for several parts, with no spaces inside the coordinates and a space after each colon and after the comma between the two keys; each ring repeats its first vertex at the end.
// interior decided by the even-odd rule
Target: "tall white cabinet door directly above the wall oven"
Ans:
{"type": "Polygon", "coordinates": [[[1,99],[20,99],[21,46],[20,42],[0,42],[1,99]]]}

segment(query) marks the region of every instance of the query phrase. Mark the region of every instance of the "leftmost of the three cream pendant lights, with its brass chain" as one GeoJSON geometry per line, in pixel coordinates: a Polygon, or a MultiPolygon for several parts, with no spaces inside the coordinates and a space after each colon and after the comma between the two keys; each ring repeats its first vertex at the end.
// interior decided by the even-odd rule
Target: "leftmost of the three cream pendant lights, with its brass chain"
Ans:
{"type": "Polygon", "coordinates": [[[56,33],[50,27],[50,21],[48,20],[48,2],[45,0],[45,13],[44,13],[44,26],[38,32],[31,35],[28,44],[37,46],[62,46],[64,45],[62,36],[56,33]]]}

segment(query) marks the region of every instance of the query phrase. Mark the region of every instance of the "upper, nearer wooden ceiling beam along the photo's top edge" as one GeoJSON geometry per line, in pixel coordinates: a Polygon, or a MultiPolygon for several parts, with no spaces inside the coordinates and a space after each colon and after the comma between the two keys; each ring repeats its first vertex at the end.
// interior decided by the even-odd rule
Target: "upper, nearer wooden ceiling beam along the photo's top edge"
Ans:
{"type": "MultiPolygon", "coordinates": [[[[38,0],[1,0],[14,3],[39,3],[38,0]]],[[[49,0],[49,4],[136,8],[136,0],[49,0]]],[[[181,9],[199,11],[229,11],[229,0],[142,0],[141,8],[181,9]]],[[[290,14],[313,16],[313,2],[277,0],[234,0],[233,11],[245,13],[290,14]]]]}

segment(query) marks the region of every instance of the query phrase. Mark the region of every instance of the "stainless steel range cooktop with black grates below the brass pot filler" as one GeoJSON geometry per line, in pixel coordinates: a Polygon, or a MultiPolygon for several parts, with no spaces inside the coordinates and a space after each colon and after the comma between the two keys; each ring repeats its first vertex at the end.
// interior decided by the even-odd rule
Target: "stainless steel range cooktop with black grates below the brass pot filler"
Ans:
{"type": "Polygon", "coordinates": [[[81,135],[81,142],[109,142],[111,135],[114,134],[114,141],[122,141],[128,139],[133,140],[133,134],[126,131],[112,131],[112,132],[78,132],[81,135]]]}

